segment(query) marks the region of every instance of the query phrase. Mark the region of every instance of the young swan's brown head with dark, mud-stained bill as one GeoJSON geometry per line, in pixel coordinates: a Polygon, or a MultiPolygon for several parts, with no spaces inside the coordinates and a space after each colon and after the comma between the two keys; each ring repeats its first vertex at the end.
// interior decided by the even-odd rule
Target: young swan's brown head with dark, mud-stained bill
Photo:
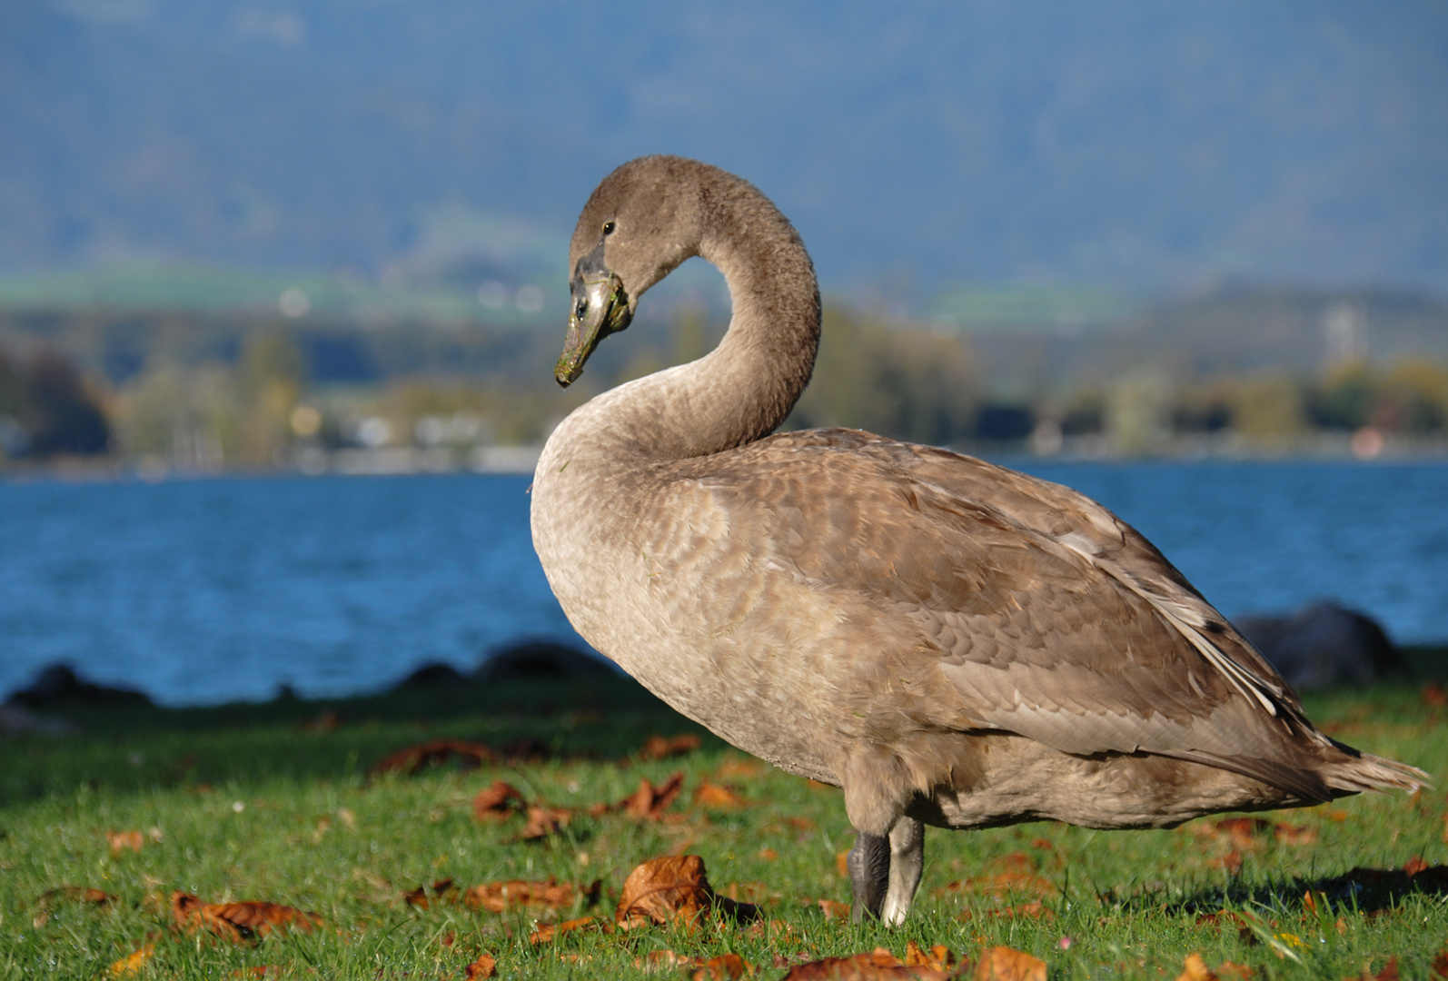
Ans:
{"type": "Polygon", "coordinates": [[[702,188],[715,171],[678,156],[641,156],[594,190],[569,246],[571,313],[553,368],[559,385],[578,381],[598,343],[628,327],[649,286],[698,255],[702,188]]]}

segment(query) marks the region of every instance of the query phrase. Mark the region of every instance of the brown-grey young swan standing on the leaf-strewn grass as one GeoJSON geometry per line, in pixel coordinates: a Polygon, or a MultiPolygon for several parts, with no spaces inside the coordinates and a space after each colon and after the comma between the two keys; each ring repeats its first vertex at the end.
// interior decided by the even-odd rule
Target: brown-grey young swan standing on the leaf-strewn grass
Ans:
{"type": "Polygon", "coordinates": [[[723,271],[720,346],[553,431],[533,544],[568,618],[683,715],[844,789],[854,914],[901,923],[924,828],[1166,828],[1426,776],[1321,734],[1151,543],[1099,504],[854,430],[770,436],[820,341],[814,266],[752,184],[624,164],[573,232],[573,382],[649,286],[723,271]]]}

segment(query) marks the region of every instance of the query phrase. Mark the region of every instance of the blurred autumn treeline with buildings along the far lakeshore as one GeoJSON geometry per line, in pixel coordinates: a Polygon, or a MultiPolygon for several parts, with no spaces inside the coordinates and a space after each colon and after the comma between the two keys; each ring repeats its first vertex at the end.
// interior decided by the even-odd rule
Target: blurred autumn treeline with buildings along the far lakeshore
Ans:
{"type": "MultiPolygon", "coordinates": [[[[217,470],[537,444],[585,398],[704,354],[724,326],[696,308],[644,315],[562,392],[562,327],[0,311],[0,453],[217,470]]],[[[1079,334],[961,334],[830,305],[786,425],[1037,453],[1293,451],[1367,430],[1368,447],[1442,444],[1448,307],[1238,294],[1079,334]]]]}

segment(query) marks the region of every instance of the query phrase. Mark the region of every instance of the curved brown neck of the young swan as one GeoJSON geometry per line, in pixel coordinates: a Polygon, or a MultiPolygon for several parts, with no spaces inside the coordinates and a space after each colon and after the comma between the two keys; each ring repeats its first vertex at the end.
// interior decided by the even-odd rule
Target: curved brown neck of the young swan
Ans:
{"type": "Polygon", "coordinates": [[[785,421],[809,382],[820,347],[820,288],[789,221],[743,181],[707,188],[698,255],[728,284],[728,331],[699,360],[615,388],[585,407],[598,404],[611,454],[679,460],[752,443],[785,421]]]}

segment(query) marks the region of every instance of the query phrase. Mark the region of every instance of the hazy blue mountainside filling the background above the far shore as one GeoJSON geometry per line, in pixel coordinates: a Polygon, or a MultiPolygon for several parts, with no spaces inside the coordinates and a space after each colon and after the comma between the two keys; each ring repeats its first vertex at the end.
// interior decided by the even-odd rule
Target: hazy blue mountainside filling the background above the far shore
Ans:
{"type": "Polygon", "coordinates": [[[676,152],[846,294],[1444,291],[1445,91],[1436,1],[7,0],[0,275],[559,276],[507,243],[676,152]]]}

